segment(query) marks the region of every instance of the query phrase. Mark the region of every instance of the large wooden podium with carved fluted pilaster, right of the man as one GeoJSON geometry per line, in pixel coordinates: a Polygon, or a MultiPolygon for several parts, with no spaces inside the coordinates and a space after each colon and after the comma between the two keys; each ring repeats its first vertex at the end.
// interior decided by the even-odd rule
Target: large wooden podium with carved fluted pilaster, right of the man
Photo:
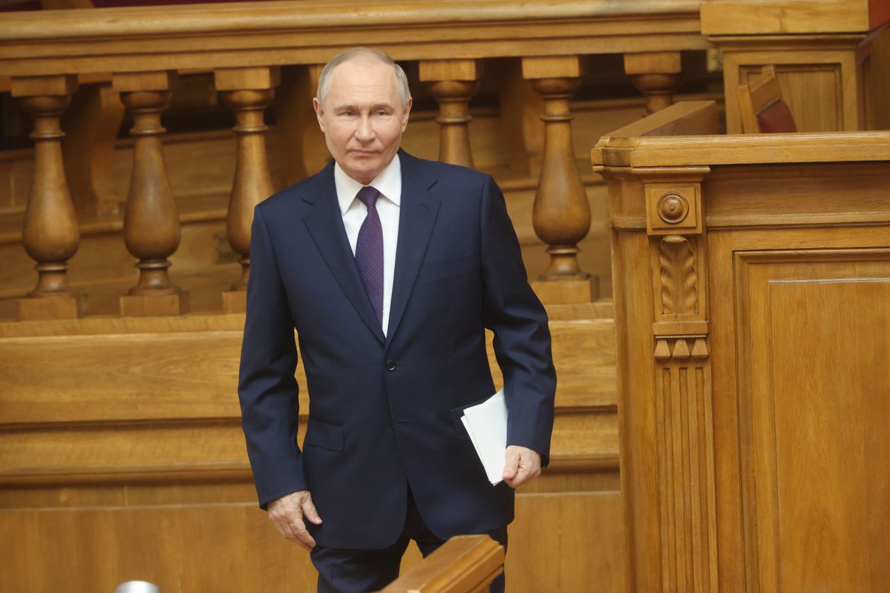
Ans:
{"type": "Polygon", "coordinates": [[[635,591],[890,590],[890,132],[603,137],[635,591]]]}

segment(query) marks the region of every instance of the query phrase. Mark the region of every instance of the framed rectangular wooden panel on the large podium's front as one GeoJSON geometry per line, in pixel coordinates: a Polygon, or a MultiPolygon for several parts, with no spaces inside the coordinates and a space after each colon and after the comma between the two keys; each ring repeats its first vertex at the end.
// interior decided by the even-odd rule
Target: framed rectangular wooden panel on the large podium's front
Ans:
{"type": "MultiPolygon", "coordinates": [[[[890,587],[890,251],[741,253],[746,533],[762,590],[890,587]]],[[[753,565],[753,563],[752,563],[753,565]]]]}

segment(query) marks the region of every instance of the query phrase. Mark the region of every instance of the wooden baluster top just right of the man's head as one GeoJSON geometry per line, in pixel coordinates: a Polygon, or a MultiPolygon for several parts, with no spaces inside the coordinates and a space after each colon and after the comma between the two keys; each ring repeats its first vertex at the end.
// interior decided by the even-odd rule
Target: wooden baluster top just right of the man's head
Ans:
{"type": "Polygon", "coordinates": [[[482,65],[478,60],[422,60],[420,80],[439,101],[441,125],[439,160],[473,168],[470,148],[470,98],[479,90],[482,65]]]}

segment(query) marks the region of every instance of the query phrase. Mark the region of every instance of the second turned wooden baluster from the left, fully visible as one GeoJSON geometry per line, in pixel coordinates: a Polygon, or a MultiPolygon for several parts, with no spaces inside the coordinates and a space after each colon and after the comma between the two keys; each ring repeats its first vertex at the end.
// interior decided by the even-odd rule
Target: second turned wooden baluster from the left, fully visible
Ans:
{"type": "Polygon", "coordinates": [[[124,316],[179,315],[188,294],[170,281],[169,258],[180,240],[179,212],[162,151],[161,111],[170,103],[171,72],[114,75],[114,88],[134,117],[133,174],[126,196],[124,241],[139,262],[139,282],[120,298],[124,316]]]}

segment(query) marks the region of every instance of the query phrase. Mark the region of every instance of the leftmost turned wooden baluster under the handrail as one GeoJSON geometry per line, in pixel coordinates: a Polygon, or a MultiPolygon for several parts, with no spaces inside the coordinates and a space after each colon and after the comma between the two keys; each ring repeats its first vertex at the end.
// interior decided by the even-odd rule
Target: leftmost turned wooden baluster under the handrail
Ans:
{"type": "Polygon", "coordinates": [[[34,117],[34,179],[25,209],[22,243],[36,260],[37,285],[22,299],[23,320],[79,317],[85,296],[71,292],[68,260],[77,252],[80,230],[65,180],[59,127],[62,111],[77,91],[77,76],[12,78],[12,96],[34,117]]]}

